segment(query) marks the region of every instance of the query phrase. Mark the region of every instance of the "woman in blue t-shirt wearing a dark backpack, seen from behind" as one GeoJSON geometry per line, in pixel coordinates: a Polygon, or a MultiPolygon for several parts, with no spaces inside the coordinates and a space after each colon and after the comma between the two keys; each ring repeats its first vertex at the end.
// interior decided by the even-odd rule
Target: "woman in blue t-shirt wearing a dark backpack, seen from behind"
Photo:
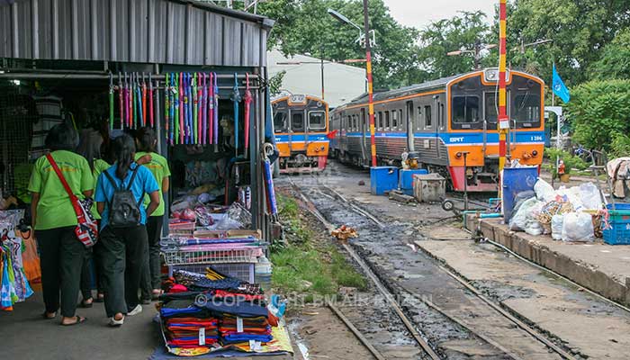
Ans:
{"type": "Polygon", "coordinates": [[[159,205],[159,186],[148,168],[134,162],[133,139],[123,134],[112,141],[114,165],[103,171],[96,185],[96,207],[101,214],[100,258],[105,311],[110,325],[121,326],[125,316],[142,311],[139,284],[147,260],[147,217],[159,205]],[[148,194],[148,207],[143,205],[148,194]]]}

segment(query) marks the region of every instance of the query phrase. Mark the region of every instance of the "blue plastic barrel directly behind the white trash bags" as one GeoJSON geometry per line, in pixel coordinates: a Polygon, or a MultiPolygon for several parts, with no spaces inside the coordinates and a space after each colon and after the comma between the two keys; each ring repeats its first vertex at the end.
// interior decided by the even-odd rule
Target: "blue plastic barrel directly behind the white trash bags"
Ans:
{"type": "Polygon", "coordinates": [[[518,193],[534,191],[538,181],[538,166],[534,167],[506,167],[503,169],[503,220],[509,223],[512,211],[516,205],[518,193]]]}

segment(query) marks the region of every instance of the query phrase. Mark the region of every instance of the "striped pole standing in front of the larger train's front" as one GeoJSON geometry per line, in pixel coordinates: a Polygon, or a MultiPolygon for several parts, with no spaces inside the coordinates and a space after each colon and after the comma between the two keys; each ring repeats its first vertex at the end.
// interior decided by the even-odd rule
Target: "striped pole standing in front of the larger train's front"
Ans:
{"type": "MultiPolygon", "coordinates": [[[[499,3],[499,172],[506,161],[506,138],[509,129],[509,117],[506,102],[506,7],[507,0],[499,3]]],[[[501,189],[499,188],[499,192],[501,189]]]]}

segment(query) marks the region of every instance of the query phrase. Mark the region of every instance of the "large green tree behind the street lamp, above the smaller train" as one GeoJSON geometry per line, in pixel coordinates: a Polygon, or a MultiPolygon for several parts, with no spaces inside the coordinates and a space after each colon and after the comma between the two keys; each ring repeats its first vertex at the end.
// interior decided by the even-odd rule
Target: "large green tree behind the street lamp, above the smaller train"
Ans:
{"type": "MultiPolygon", "coordinates": [[[[359,31],[338,23],[327,14],[329,8],[363,28],[360,0],[269,0],[260,4],[259,14],[276,20],[268,47],[277,47],[285,55],[323,54],[330,60],[365,58],[365,49],[355,42],[359,31]]],[[[370,27],[376,33],[374,87],[397,87],[425,80],[427,73],[419,66],[419,32],[397,23],[383,0],[371,0],[368,14],[370,27]]],[[[361,63],[356,66],[365,67],[361,63]]]]}

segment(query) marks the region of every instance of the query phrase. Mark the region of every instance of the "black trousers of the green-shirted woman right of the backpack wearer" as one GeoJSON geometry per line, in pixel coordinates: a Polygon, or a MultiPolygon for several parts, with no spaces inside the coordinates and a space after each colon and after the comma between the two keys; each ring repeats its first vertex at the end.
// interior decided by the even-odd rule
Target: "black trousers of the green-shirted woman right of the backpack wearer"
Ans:
{"type": "Polygon", "coordinates": [[[142,271],[142,297],[150,299],[153,289],[160,289],[161,284],[161,263],[159,258],[159,240],[162,238],[162,224],[164,217],[149,216],[147,221],[148,237],[148,261],[142,271]]]}

